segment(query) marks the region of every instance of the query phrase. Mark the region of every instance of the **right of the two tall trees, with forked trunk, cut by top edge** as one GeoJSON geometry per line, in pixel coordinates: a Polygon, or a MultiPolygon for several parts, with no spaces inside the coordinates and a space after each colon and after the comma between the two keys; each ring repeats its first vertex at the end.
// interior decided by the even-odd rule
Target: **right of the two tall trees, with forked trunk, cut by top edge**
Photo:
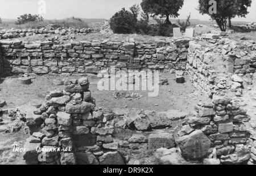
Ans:
{"type": "Polygon", "coordinates": [[[229,27],[231,27],[232,18],[245,17],[249,13],[247,8],[251,6],[251,0],[215,0],[216,12],[211,12],[212,2],[212,0],[199,0],[199,12],[208,14],[216,20],[221,31],[226,31],[227,20],[229,20],[229,27]]]}

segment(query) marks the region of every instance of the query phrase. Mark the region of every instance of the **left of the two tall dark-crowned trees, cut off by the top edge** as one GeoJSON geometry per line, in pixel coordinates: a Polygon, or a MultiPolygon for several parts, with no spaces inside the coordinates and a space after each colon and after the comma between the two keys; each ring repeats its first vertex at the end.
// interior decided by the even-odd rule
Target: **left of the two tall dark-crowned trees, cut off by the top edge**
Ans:
{"type": "Polygon", "coordinates": [[[176,18],[178,11],[183,6],[184,0],[142,0],[141,7],[145,13],[152,17],[160,15],[166,17],[166,24],[171,24],[170,16],[176,18]]]}

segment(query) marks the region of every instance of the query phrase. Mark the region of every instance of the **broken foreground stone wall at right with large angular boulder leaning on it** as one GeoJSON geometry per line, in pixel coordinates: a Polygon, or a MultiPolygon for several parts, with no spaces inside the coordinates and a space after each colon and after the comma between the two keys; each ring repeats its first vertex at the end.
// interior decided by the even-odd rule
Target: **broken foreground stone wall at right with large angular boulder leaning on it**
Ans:
{"type": "Polygon", "coordinates": [[[250,159],[250,118],[236,102],[214,96],[212,102],[199,103],[197,114],[187,119],[178,133],[177,144],[185,158],[204,164],[244,164],[250,159]],[[210,154],[212,153],[212,154],[210,154]],[[209,157],[209,158],[208,158],[209,157]]]}

